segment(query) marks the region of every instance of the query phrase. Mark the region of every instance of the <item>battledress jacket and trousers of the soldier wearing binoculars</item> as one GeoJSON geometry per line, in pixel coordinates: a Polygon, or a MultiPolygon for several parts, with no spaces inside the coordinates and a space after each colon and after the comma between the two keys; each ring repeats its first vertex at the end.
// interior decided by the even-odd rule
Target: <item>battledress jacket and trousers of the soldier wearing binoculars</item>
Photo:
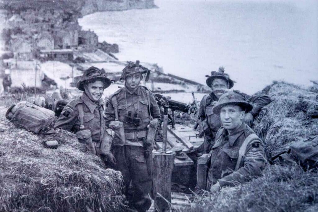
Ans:
{"type": "MultiPolygon", "coordinates": [[[[147,171],[144,156],[143,140],[147,136],[149,122],[152,118],[160,119],[160,110],[151,92],[139,86],[135,92],[130,93],[125,87],[115,92],[106,103],[104,117],[106,125],[115,120],[115,109],[112,98],[117,100],[118,119],[124,123],[125,143],[120,143],[116,135],[113,139],[112,153],[116,158],[115,169],[121,171],[125,188],[124,191],[129,202],[138,210],[145,211],[151,205],[150,194],[152,189],[152,176],[147,171]],[[150,111],[149,111],[150,109],[150,111]],[[139,124],[127,123],[125,115],[136,114],[140,118],[139,124]],[[132,181],[134,195],[128,194],[128,187],[132,181]]],[[[152,155],[150,154],[152,159],[152,155]]],[[[152,161],[152,160],[151,160],[152,161]]]]}

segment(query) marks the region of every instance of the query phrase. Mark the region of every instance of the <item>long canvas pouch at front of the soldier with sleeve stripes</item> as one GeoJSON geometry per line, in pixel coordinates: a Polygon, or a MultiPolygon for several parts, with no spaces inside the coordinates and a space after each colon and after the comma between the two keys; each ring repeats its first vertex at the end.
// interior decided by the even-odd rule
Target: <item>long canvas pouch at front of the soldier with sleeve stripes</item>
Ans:
{"type": "Polygon", "coordinates": [[[203,154],[197,160],[197,188],[207,190],[207,176],[211,154],[203,154]]]}

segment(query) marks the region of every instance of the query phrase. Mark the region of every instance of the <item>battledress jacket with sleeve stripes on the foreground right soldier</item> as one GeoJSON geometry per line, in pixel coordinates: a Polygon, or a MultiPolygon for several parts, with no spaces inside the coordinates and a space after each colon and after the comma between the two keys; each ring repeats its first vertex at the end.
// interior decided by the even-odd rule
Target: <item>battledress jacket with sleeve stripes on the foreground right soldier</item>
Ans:
{"type": "Polygon", "coordinates": [[[217,182],[221,187],[235,186],[237,183],[242,183],[260,174],[266,159],[264,144],[259,139],[249,143],[239,169],[233,171],[239,158],[239,148],[251,133],[254,131],[245,123],[242,123],[232,134],[229,134],[223,127],[218,130],[216,142],[211,150],[207,189],[217,182]]]}

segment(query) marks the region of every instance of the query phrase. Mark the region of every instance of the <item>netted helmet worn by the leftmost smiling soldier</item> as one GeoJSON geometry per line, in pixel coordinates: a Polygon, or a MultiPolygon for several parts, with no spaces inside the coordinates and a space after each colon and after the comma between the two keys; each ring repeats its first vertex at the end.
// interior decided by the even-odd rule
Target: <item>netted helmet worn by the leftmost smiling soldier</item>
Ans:
{"type": "Polygon", "coordinates": [[[80,80],[77,82],[76,87],[84,91],[84,85],[87,82],[92,82],[94,80],[100,80],[104,84],[104,89],[107,88],[112,82],[106,77],[106,72],[104,69],[99,69],[97,67],[89,67],[84,74],[80,77],[80,80]]]}

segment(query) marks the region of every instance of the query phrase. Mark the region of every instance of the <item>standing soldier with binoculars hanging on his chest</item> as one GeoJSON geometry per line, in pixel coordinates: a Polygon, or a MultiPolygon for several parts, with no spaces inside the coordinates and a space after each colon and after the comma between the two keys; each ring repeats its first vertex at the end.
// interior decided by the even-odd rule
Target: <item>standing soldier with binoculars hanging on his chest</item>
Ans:
{"type": "Polygon", "coordinates": [[[138,60],[128,62],[121,75],[125,86],[110,96],[104,112],[106,123],[115,130],[112,146],[117,161],[115,169],[123,175],[124,194],[130,209],[137,211],[146,211],[151,206],[153,143],[145,141],[150,134],[149,126],[156,126],[160,121],[160,110],[153,94],[139,85],[144,73],[147,81],[149,70],[138,60]],[[124,133],[121,130],[117,133],[120,124],[124,133]]]}

